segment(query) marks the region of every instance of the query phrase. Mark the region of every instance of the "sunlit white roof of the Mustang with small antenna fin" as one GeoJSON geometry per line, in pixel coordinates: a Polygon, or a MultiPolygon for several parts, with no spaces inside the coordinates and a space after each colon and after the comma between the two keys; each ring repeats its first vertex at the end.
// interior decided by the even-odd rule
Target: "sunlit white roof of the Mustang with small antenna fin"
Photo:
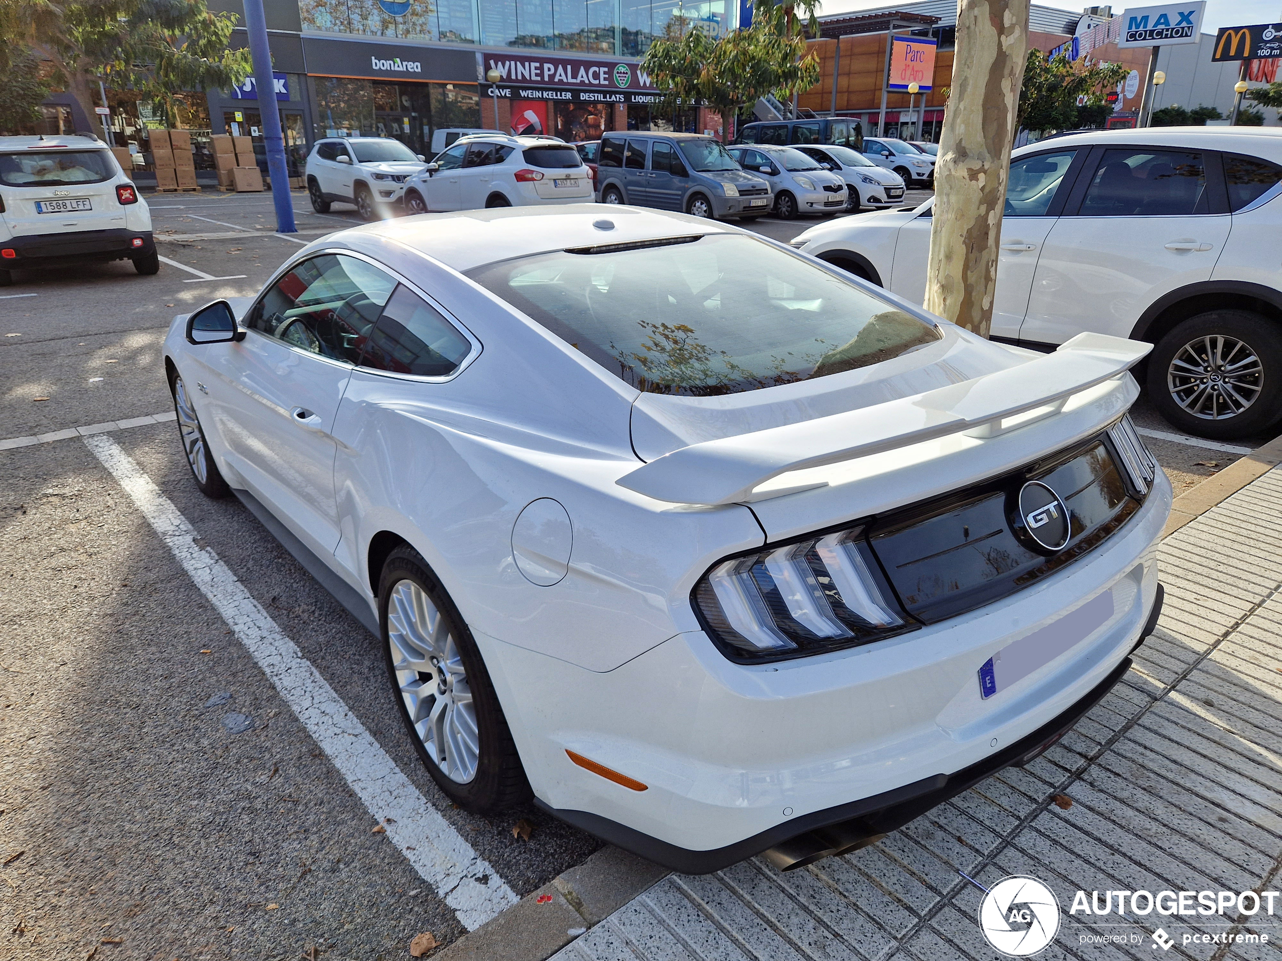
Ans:
{"type": "Polygon", "coordinates": [[[458,213],[420,214],[379,220],[331,234],[369,252],[372,246],[410,247],[446,267],[467,272],[496,260],[529,256],[567,247],[658,240],[691,233],[738,233],[712,220],[649,208],[567,204],[564,206],[492,208],[458,213]],[[594,227],[613,223],[613,229],[594,227]]]}

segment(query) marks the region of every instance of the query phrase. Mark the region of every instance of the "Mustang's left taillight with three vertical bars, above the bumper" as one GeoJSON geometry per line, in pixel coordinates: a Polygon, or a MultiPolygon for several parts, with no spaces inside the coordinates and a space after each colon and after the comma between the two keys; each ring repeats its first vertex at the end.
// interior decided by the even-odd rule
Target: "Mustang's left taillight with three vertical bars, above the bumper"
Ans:
{"type": "Polygon", "coordinates": [[[736,659],[818,653],[917,627],[862,528],[722,561],[699,580],[694,600],[709,633],[736,659]]]}

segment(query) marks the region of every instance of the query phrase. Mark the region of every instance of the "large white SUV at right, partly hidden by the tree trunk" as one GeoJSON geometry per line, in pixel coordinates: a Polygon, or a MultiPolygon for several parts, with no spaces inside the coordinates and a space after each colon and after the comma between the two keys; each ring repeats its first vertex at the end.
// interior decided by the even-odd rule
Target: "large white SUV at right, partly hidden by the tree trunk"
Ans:
{"type": "MultiPolygon", "coordinates": [[[[1051,350],[1083,331],[1154,343],[1141,375],[1192,434],[1282,418],[1282,131],[1091,131],[1010,161],[995,340],[1051,350]]],[[[933,199],[813,227],[794,246],[926,299],[933,199]]]]}

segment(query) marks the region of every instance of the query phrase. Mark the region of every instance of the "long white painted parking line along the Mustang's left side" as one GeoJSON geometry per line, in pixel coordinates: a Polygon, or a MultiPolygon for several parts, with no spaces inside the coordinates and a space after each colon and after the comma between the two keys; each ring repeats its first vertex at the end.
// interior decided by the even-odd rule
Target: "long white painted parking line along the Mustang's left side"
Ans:
{"type": "Polygon", "coordinates": [[[124,488],[188,577],[223,616],[281,697],[364,802],[387,838],[476,930],[519,899],[485,858],[432,807],[320,673],[236,575],[110,437],[85,443],[124,488]]]}

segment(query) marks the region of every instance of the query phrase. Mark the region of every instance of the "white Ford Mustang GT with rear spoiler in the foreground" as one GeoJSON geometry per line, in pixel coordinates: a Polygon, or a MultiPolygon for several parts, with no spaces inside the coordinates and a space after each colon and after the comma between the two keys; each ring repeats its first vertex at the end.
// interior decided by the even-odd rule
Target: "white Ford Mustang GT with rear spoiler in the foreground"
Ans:
{"type": "Polygon", "coordinates": [[[323,237],[176,318],[165,365],[200,488],[377,614],[450,798],[699,873],[869,843],[1126,671],[1170,506],[1127,416],[1147,349],[992,343],[583,205],[323,237]]]}

